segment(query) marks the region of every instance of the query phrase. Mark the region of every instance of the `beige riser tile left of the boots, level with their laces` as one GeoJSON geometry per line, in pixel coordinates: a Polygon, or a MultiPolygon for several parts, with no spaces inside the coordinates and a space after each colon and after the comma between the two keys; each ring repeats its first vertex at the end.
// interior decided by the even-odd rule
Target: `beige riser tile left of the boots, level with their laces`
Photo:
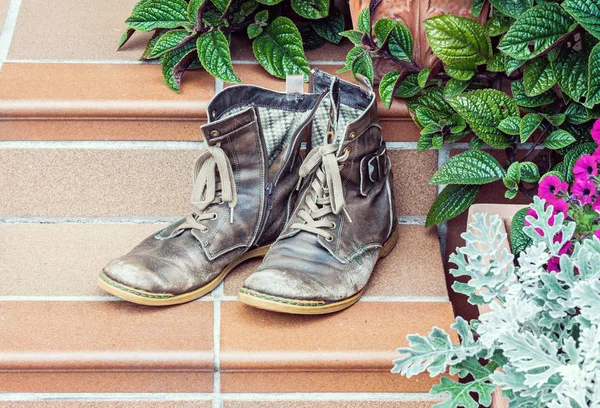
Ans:
{"type": "Polygon", "coordinates": [[[199,154],[1,149],[0,216],[184,216],[199,154]]]}

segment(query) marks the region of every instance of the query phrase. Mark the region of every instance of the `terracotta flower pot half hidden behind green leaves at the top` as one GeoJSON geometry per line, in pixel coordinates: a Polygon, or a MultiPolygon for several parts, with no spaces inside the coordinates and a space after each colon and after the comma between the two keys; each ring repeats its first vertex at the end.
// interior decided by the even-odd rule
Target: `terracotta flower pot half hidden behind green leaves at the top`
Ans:
{"type": "MultiPolygon", "coordinates": [[[[455,14],[473,18],[471,4],[473,0],[382,0],[371,16],[373,23],[382,17],[391,18],[402,22],[412,32],[414,37],[415,62],[424,67],[430,67],[435,62],[435,55],[431,51],[425,36],[423,21],[441,14],[455,14]]],[[[350,0],[350,14],[352,24],[357,27],[360,10],[369,7],[369,0],[350,0]]],[[[488,15],[488,6],[481,13],[478,20],[484,22],[488,15]]],[[[386,61],[375,62],[375,76],[381,78],[393,66],[386,61]],[[383,63],[382,63],[383,62],[383,63]]]]}

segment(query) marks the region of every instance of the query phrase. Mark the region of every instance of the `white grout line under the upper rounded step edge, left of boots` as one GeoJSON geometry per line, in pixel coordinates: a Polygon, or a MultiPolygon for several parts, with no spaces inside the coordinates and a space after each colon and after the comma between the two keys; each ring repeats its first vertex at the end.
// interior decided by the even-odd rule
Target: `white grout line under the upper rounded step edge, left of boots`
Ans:
{"type": "Polygon", "coordinates": [[[197,150],[204,142],[173,141],[0,141],[0,149],[197,150]]]}

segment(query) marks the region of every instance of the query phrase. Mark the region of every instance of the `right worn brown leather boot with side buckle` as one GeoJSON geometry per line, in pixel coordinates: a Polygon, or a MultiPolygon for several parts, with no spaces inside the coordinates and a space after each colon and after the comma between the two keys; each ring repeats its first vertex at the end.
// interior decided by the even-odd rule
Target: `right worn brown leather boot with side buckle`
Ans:
{"type": "Polygon", "coordinates": [[[322,105],[332,100],[330,115],[318,115],[326,126],[313,125],[298,204],[240,289],[239,300],[248,305],[295,314],[342,310],[358,301],[375,263],[396,244],[391,165],[375,95],[313,73],[313,91],[328,87],[331,98],[322,105]]]}

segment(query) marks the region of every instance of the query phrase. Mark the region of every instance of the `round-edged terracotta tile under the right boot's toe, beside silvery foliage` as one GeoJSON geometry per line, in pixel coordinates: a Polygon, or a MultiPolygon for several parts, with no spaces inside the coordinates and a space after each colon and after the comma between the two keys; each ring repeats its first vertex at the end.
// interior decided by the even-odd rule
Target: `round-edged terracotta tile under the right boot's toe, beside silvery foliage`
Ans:
{"type": "Polygon", "coordinates": [[[292,316],[223,302],[222,390],[427,391],[435,379],[406,381],[389,373],[391,361],[406,334],[452,319],[450,303],[364,302],[332,315],[292,316]]]}

